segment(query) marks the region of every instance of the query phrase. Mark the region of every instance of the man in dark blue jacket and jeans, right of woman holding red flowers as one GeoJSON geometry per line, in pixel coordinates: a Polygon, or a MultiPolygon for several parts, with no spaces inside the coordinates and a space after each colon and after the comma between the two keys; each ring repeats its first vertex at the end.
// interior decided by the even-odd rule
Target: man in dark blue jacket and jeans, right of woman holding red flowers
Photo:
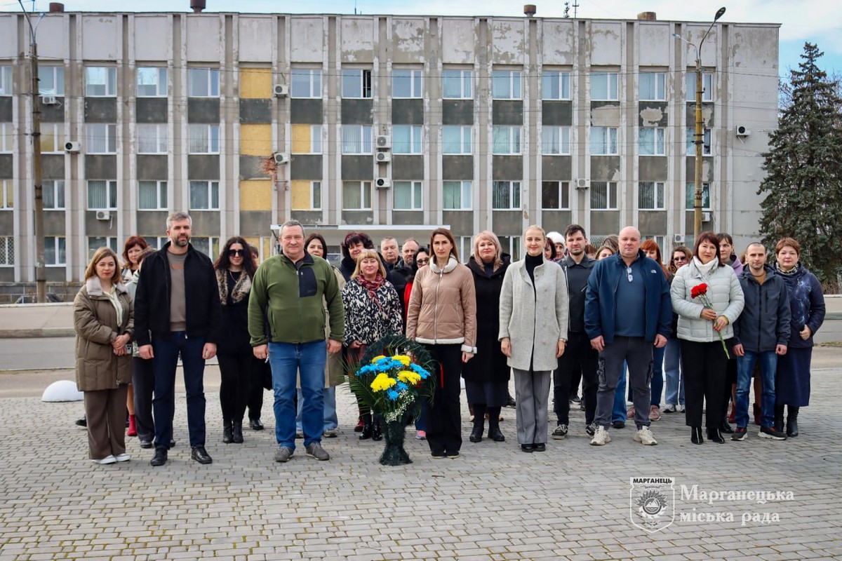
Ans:
{"type": "MultiPolygon", "coordinates": [[[[766,248],[749,244],[745,251],[749,267],[739,283],[745,295],[745,307],[734,322],[734,354],[737,355],[737,430],[731,440],[744,440],[749,426],[749,385],[754,363],[760,363],[763,397],[759,437],[785,440],[786,432],[775,429],[775,372],[778,356],[786,354],[790,338],[790,299],[784,279],[766,267],[766,248]]],[[[757,396],[754,396],[757,400],[757,396]]]]}

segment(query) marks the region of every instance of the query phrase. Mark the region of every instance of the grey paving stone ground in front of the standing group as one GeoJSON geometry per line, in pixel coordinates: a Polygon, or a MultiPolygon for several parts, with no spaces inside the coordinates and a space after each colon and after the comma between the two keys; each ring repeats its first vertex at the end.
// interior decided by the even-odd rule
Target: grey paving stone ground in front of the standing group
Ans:
{"type": "Polygon", "coordinates": [[[397,468],[377,463],[382,442],[360,442],[351,430],[347,389],[338,392],[342,432],[322,442],[331,460],[306,458],[298,441],[285,464],[272,460],[269,407],[266,431],[247,429],[241,445],[221,442],[216,393],[207,394],[206,415],[214,463],[190,462],[179,394],[178,444],[162,468],[149,465],[152,451],[136,439],[131,462],[89,462],[85,432],[73,426],[79,403],[2,399],[0,560],[842,558],[840,364],[813,370],[801,436],[786,442],[760,439],[752,426],[744,442],[695,446],[684,415],[664,414],[652,426],[658,446],[632,442],[625,428],[591,447],[574,410],[567,439],[525,454],[512,409],[501,425],[507,442],[468,442],[463,394],[461,457],[430,458],[410,427],[414,463],[397,468]],[[632,524],[632,477],[675,479],[669,527],[632,524]],[[784,495],[702,498],[728,491],[784,495]]]}

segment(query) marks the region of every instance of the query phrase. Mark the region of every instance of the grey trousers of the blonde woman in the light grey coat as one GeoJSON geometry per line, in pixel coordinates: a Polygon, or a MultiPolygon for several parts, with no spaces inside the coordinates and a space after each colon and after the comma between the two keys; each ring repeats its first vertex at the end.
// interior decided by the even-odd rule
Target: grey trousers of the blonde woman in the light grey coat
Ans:
{"type": "Polygon", "coordinates": [[[517,404],[515,416],[518,426],[519,444],[546,444],[552,371],[514,371],[514,401],[517,404]]]}

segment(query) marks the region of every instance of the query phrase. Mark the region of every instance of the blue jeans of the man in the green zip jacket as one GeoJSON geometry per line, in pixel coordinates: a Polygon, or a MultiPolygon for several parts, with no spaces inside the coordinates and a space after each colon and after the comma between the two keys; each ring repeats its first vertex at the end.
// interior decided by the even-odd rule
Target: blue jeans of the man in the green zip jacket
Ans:
{"type": "Polygon", "coordinates": [[[274,389],[274,436],[278,446],[296,449],[296,378],[301,376],[301,428],[304,446],[322,442],[324,367],[328,362],[325,341],[269,343],[274,389]]]}

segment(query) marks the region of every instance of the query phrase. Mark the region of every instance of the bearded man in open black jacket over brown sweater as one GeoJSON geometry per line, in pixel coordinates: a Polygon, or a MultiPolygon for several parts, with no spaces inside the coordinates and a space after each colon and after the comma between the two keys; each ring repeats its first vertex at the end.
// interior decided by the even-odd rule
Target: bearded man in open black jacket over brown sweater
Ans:
{"type": "Polygon", "coordinates": [[[155,455],[167,462],[173,442],[175,370],[179,354],[187,390],[190,458],[211,463],[205,451],[205,360],[216,355],[220,330],[219,289],[213,263],[190,245],[192,220],[184,212],[167,217],[169,241],[143,263],[135,299],[135,333],[141,358],[155,372],[155,455]]]}

